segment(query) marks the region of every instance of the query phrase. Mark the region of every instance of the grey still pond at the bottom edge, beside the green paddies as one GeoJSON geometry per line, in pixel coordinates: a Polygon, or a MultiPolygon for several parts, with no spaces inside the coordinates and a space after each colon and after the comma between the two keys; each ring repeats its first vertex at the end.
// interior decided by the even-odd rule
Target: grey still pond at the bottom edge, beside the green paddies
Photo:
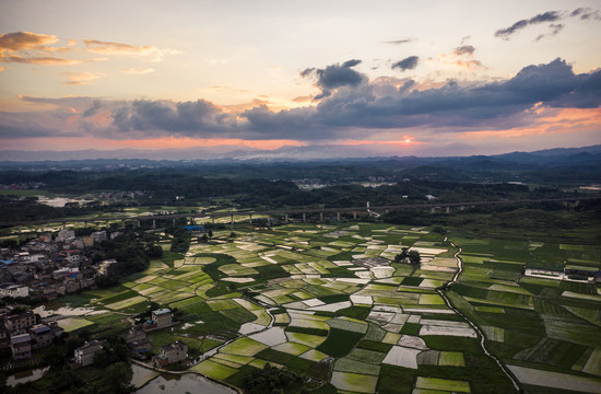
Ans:
{"type": "Polygon", "coordinates": [[[131,383],[137,387],[145,384],[135,392],[137,394],[236,394],[236,391],[196,373],[158,374],[138,364],[132,364],[131,369],[133,370],[131,383]]]}

